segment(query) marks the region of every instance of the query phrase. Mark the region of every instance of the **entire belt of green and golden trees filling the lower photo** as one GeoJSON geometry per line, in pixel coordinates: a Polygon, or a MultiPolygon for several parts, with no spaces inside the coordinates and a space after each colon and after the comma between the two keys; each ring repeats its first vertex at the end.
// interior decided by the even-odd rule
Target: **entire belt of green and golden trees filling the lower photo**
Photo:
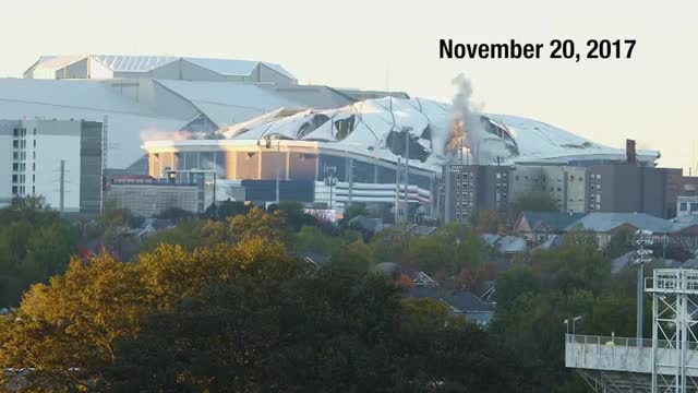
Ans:
{"type": "MultiPolygon", "coordinates": [[[[364,213],[359,205],[349,216],[364,213]]],[[[176,228],[129,261],[71,260],[79,228],[40,201],[17,201],[0,217],[0,250],[11,250],[0,258],[12,266],[3,285],[40,283],[0,317],[5,390],[585,392],[564,367],[563,321],[581,315],[578,334],[635,334],[635,272],[610,273],[610,258],[628,250],[625,233],[599,250],[593,234],[573,230],[559,248],[503,270],[478,236],[496,226],[488,212],[426,237],[373,236],[299,204],[225,203],[173,217],[176,228]],[[327,261],[317,269],[300,258],[309,251],[327,261]],[[470,290],[496,279],[492,324],[406,298],[376,272],[381,262],[470,290]],[[33,264],[39,273],[23,275],[33,264]]],[[[118,242],[132,219],[108,209],[98,231],[118,242]]]]}

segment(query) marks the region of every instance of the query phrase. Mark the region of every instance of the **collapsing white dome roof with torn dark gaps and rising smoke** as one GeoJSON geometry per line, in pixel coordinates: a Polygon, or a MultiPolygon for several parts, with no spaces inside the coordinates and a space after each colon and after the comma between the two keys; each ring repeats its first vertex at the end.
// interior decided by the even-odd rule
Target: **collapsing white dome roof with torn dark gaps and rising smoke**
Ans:
{"type": "MultiPolygon", "coordinates": [[[[607,147],[535,120],[479,115],[480,130],[471,130],[465,155],[471,163],[526,164],[581,160],[624,160],[625,151],[607,147]]],[[[396,160],[406,156],[440,166],[457,158],[466,138],[455,132],[453,108],[422,98],[368,99],[341,108],[282,108],[219,130],[231,140],[281,139],[326,142],[336,150],[396,160]],[[409,133],[409,147],[405,135],[409,133]],[[454,143],[454,140],[458,140],[454,143]],[[455,146],[455,148],[454,148],[455,146]]],[[[458,130],[469,132],[469,130],[458,130]]],[[[653,163],[659,152],[640,151],[638,159],[653,163]]]]}

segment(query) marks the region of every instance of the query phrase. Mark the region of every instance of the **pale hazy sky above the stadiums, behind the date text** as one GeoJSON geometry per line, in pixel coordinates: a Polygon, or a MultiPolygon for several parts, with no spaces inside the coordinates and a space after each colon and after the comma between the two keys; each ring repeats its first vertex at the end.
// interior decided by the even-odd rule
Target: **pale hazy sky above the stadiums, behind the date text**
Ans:
{"type": "Polygon", "coordinates": [[[695,0],[3,0],[0,76],[21,76],[40,55],[180,55],[266,60],[301,83],[450,100],[450,80],[464,72],[486,111],[612,146],[634,138],[660,150],[662,166],[688,168],[698,144],[697,15],[695,0]],[[580,52],[589,38],[637,46],[629,60],[442,60],[440,38],[570,38],[580,52]]]}

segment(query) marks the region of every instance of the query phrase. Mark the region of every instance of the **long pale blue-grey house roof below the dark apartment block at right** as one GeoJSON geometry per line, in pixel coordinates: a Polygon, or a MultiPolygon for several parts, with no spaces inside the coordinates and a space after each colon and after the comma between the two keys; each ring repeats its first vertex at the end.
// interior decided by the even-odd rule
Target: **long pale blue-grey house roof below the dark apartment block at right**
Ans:
{"type": "Polygon", "coordinates": [[[623,225],[655,233],[672,231],[671,222],[646,213],[589,213],[579,221],[569,224],[565,230],[571,230],[577,225],[595,233],[607,233],[623,225]]]}

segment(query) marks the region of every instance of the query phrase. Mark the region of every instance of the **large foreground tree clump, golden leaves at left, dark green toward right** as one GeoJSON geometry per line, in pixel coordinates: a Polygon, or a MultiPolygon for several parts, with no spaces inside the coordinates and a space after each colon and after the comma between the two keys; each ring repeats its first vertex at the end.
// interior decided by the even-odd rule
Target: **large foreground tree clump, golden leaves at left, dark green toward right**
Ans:
{"type": "MultiPolygon", "coordinates": [[[[191,223],[190,223],[191,224],[191,223]]],[[[0,318],[5,389],[153,392],[532,391],[485,331],[390,277],[290,252],[254,209],[124,263],[74,258],[0,318]],[[25,370],[20,370],[25,368],[25,370]]],[[[183,229],[182,229],[183,230],[183,229]]]]}

